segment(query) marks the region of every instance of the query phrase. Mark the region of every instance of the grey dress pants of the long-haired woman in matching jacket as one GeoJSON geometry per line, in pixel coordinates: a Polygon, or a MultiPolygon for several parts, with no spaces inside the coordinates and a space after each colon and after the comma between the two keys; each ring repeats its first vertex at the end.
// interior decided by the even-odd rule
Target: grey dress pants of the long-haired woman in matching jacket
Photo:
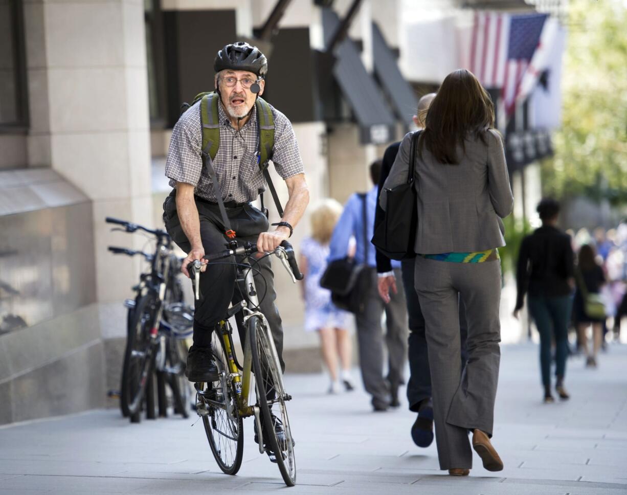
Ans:
{"type": "Polygon", "coordinates": [[[468,430],[492,436],[500,363],[500,263],[450,263],[416,256],[415,283],[426,323],[440,469],[470,469],[468,430]],[[468,325],[463,370],[458,294],[468,325]]]}

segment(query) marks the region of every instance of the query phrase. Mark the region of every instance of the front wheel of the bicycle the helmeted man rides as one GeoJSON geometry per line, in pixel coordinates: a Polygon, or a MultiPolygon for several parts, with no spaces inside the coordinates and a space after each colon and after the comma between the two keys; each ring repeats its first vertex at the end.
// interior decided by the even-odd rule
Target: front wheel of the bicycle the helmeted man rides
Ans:
{"type": "Polygon", "coordinates": [[[278,362],[277,352],[273,343],[270,331],[265,323],[258,316],[251,316],[248,320],[248,338],[251,344],[251,355],[253,370],[255,372],[255,387],[257,390],[257,400],[261,411],[261,424],[263,427],[263,439],[270,446],[270,450],[275,454],[278,469],[281,472],[283,481],[287,486],[296,484],[296,460],[294,456],[294,442],[292,430],[287,417],[285,407],[285,390],[283,388],[282,372],[278,362]],[[268,390],[274,390],[275,398],[268,400],[268,390]],[[271,402],[271,403],[270,403],[271,402]],[[280,419],[285,432],[285,444],[280,446],[273,424],[271,408],[273,404],[279,405],[280,419]]]}

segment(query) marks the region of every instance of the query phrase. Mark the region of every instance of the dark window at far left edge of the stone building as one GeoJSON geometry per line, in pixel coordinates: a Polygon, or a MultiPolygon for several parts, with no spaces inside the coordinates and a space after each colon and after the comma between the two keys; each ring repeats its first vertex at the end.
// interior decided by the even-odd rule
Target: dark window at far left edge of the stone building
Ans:
{"type": "Polygon", "coordinates": [[[0,132],[28,126],[22,0],[0,0],[0,132]]]}

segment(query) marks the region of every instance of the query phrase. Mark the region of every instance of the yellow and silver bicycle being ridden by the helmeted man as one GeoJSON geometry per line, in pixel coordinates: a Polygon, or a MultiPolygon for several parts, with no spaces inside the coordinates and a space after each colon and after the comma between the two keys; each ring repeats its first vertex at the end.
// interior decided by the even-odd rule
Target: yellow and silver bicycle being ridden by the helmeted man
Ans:
{"type": "MultiPolygon", "coordinates": [[[[211,452],[223,472],[236,474],[239,471],[244,449],[243,418],[254,416],[260,453],[268,454],[270,461],[278,464],[285,484],[293,486],[296,482],[295,442],[285,405],[292,397],[285,392],[277,349],[268,321],[259,309],[260,296],[253,278],[255,272],[260,273],[256,268],[258,260],[252,257],[256,252],[253,244],[238,246],[237,241],[231,241],[225,251],[204,256],[209,262],[236,257],[233,264],[242,300],[229,308],[226,318],[219,322],[219,330],[213,332],[218,380],[196,383],[196,409],[203,419],[211,452]],[[240,312],[246,328],[242,342],[243,365],[236,357],[233,329],[228,321],[240,312]],[[278,409],[277,415],[272,410],[274,405],[278,409]],[[280,424],[284,432],[282,439],[276,432],[280,424]]],[[[294,283],[303,278],[292,246],[287,241],[264,256],[272,254],[280,259],[294,283]]],[[[194,261],[187,267],[197,300],[202,297],[199,285],[201,266],[201,261],[194,261]]]]}

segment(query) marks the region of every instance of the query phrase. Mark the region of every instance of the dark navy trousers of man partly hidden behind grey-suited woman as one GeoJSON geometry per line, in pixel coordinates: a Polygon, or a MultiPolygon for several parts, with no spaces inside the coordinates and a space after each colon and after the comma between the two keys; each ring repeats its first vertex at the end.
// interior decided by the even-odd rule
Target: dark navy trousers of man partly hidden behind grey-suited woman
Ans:
{"type": "MultiPolygon", "coordinates": [[[[409,410],[418,412],[418,407],[424,399],[431,397],[431,372],[429,372],[429,355],[427,351],[426,335],[424,334],[424,316],[420,309],[420,300],[414,284],[414,259],[403,261],[403,287],[407,300],[407,314],[409,322],[409,380],[407,382],[407,400],[409,410]]],[[[398,281],[397,281],[398,284],[398,281]]],[[[466,363],[466,311],[463,301],[460,301],[460,347],[461,365],[466,363]]]]}

